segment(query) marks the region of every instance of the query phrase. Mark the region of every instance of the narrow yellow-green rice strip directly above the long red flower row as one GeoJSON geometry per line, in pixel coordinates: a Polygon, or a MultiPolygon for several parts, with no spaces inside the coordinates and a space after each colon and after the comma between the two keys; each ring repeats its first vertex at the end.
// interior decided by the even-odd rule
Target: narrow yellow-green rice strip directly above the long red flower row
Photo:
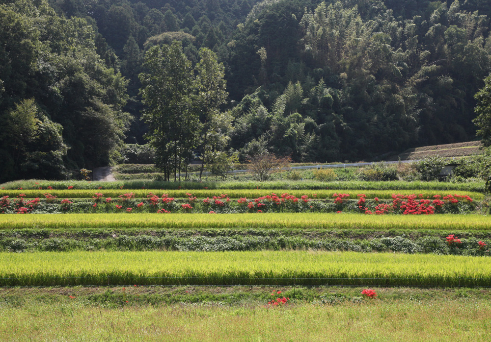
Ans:
{"type": "Polygon", "coordinates": [[[240,198],[247,197],[249,199],[271,195],[272,193],[281,196],[281,194],[288,193],[290,195],[294,195],[296,197],[302,195],[308,195],[309,198],[329,198],[333,199],[334,194],[349,194],[351,199],[358,198],[358,194],[365,194],[367,198],[375,198],[378,197],[380,199],[390,199],[392,195],[423,195],[424,198],[429,197],[433,199],[434,195],[469,195],[471,198],[480,200],[484,198],[484,195],[477,192],[470,191],[442,191],[442,190],[363,190],[363,189],[355,189],[355,190],[287,190],[287,189],[279,189],[279,190],[262,190],[262,189],[254,189],[254,190],[232,190],[232,189],[222,189],[222,190],[0,190],[1,196],[9,196],[9,197],[17,197],[20,194],[26,195],[26,198],[45,198],[45,194],[51,194],[53,196],[57,196],[58,198],[92,198],[96,193],[103,194],[104,197],[117,198],[120,195],[133,193],[136,197],[146,198],[150,193],[154,195],[158,195],[159,197],[166,194],[169,197],[175,198],[187,198],[187,193],[192,194],[198,198],[206,198],[213,196],[219,196],[221,194],[226,194],[230,198],[240,198]],[[314,196],[315,195],[315,196],[314,196]]]}

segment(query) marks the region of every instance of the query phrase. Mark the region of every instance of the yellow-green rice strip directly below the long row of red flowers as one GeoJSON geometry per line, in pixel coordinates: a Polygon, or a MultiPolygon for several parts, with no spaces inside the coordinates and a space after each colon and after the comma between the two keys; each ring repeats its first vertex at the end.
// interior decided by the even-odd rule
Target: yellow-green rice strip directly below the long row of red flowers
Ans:
{"type": "Polygon", "coordinates": [[[24,228],[298,228],[491,230],[478,214],[364,215],[337,213],[265,214],[6,214],[0,229],[24,228]]]}

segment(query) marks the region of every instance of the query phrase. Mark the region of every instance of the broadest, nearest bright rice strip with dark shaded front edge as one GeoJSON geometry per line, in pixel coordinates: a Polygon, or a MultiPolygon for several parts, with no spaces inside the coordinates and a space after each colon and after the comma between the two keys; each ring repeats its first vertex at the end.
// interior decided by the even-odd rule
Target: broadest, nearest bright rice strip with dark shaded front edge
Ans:
{"type": "Polygon", "coordinates": [[[491,258],[397,253],[0,253],[1,286],[491,286],[491,258]]]}

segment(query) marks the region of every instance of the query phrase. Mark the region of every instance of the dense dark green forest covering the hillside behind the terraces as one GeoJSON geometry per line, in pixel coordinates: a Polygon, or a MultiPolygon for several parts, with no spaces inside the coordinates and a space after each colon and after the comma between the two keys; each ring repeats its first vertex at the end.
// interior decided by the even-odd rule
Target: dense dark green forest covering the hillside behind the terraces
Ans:
{"type": "Polygon", "coordinates": [[[179,169],[191,150],[357,161],[473,139],[490,17],[487,0],[0,0],[0,181],[69,177],[152,141],[144,87],[172,51],[196,121],[172,147],[179,169]],[[226,84],[213,108],[206,61],[226,84]]]}

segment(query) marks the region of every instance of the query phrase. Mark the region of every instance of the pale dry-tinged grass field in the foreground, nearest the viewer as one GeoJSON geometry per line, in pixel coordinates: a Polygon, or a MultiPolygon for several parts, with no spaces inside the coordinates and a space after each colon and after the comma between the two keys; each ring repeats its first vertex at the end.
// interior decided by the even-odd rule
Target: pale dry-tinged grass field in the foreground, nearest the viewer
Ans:
{"type": "Polygon", "coordinates": [[[5,307],[0,341],[489,341],[489,299],[105,309],[76,302],[5,307]]]}

